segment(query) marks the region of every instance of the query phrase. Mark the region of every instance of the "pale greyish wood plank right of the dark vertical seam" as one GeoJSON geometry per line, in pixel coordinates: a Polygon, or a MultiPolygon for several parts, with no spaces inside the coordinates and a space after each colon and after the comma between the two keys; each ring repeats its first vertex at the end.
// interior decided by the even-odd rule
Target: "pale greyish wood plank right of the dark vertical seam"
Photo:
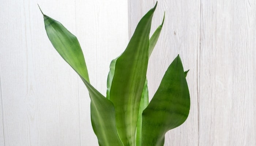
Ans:
{"type": "Polygon", "coordinates": [[[256,145],[255,11],[251,0],[201,0],[201,146],[256,145]]]}

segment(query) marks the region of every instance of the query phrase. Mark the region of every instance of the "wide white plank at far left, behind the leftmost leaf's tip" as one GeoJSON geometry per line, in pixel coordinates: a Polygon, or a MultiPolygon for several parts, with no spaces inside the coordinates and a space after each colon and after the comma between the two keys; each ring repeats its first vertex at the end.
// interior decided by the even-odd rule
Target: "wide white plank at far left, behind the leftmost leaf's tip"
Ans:
{"type": "MultiPolygon", "coordinates": [[[[73,2],[38,4],[74,32],[73,2]]],[[[1,1],[0,11],[5,145],[79,145],[77,75],[48,40],[37,4],[1,1]]]]}

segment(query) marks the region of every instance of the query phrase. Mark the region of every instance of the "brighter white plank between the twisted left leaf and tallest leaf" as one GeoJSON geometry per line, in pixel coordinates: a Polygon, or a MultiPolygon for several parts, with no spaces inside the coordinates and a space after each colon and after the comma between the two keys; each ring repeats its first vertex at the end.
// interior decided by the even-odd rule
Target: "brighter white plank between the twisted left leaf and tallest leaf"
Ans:
{"type": "MultiPolygon", "coordinates": [[[[128,44],[127,1],[76,1],[76,36],[86,59],[91,84],[106,96],[106,81],[112,59],[128,44]]],[[[80,145],[97,146],[90,119],[90,98],[78,79],[80,145]]]]}

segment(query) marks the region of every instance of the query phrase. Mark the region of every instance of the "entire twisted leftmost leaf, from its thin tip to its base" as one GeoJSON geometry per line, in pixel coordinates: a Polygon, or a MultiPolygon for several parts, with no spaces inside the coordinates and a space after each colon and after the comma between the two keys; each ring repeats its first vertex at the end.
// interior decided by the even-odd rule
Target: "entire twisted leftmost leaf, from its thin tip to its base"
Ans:
{"type": "MultiPolygon", "coordinates": [[[[44,15],[44,14],[43,14],[44,15]]],[[[91,122],[100,146],[123,146],[115,120],[113,103],[99,93],[90,83],[82,49],[77,38],[61,23],[44,15],[48,38],[61,57],[79,74],[91,99],[91,122]]]]}

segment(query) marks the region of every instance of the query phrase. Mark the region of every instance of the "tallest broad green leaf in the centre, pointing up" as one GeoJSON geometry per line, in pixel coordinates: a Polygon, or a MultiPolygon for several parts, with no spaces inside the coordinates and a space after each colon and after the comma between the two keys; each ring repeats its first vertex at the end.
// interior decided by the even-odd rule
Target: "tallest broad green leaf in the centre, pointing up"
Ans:
{"type": "Polygon", "coordinates": [[[116,60],[110,101],[116,109],[116,126],[125,146],[135,146],[140,98],[146,80],[148,45],[154,8],[140,20],[124,53],[116,60]]]}

